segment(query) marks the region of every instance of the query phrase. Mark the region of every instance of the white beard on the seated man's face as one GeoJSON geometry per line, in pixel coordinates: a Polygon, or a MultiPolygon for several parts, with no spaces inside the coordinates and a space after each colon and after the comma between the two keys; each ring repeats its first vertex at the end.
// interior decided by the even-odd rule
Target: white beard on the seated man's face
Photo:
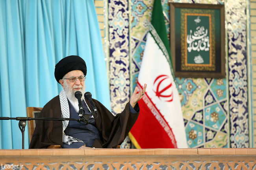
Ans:
{"type": "Polygon", "coordinates": [[[64,90],[65,90],[65,93],[66,93],[66,95],[67,95],[67,98],[68,98],[69,100],[73,101],[73,102],[77,102],[77,99],[76,99],[76,97],[75,97],[75,92],[76,92],[76,91],[74,91],[74,88],[81,88],[81,90],[79,90],[79,91],[82,92],[81,100],[84,99],[85,84],[84,84],[83,86],[80,84],[80,86],[74,85],[73,87],[70,87],[70,86],[67,84],[67,82],[64,80],[64,88],[65,88],[64,90]]]}

